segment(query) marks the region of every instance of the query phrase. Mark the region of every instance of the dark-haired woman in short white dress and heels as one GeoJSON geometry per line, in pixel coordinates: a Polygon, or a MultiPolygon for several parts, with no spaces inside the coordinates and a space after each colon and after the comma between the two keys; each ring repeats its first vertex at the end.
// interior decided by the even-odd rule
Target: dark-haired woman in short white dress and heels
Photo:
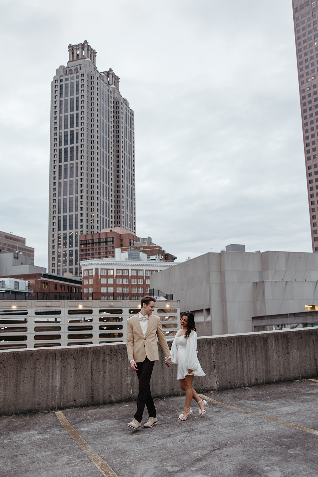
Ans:
{"type": "Polygon", "coordinates": [[[171,362],[178,365],[178,380],[181,389],[185,391],[185,409],[178,418],[178,421],[185,421],[188,416],[191,418],[192,398],[199,404],[200,417],[205,415],[205,405],[208,404],[204,399],[200,399],[192,387],[195,376],[205,376],[196,356],[197,335],[194,314],[191,311],[182,313],[180,323],[183,329],[177,332],[172,343],[171,362]]]}

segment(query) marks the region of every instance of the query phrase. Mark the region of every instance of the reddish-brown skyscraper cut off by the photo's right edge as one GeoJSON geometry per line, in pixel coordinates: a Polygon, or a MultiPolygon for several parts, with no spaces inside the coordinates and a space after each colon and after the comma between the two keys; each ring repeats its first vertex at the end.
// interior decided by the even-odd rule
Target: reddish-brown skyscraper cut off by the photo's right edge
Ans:
{"type": "Polygon", "coordinates": [[[293,0],[313,252],[318,252],[318,24],[315,0],[293,0]]]}

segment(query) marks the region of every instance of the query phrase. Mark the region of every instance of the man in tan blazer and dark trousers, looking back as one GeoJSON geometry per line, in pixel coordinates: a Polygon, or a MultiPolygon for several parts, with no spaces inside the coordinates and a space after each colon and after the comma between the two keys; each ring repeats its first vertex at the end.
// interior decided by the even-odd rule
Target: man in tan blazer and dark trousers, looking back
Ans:
{"type": "Polygon", "coordinates": [[[166,357],[165,364],[170,367],[171,356],[162,329],[159,316],[153,315],[156,299],[149,295],[141,300],[141,310],[127,320],[127,353],[131,368],[137,372],[139,380],[139,394],[137,398],[137,412],[129,427],[139,429],[143,418],[144,406],[147,406],[149,419],[144,424],[147,429],[157,424],[154,400],[150,392],[150,378],[154,362],[159,360],[157,338],[166,357]]]}

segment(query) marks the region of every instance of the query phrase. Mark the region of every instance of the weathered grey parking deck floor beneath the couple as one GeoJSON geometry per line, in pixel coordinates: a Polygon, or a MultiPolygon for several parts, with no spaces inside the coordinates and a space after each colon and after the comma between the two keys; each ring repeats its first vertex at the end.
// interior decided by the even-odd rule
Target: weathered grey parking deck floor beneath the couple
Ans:
{"type": "MultiPolygon", "coordinates": [[[[318,431],[317,381],[205,395],[318,431]]],[[[126,426],[135,411],[132,402],[66,409],[63,414],[119,477],[318,476],[318,432],[212,403],[200,418],[193,402],[192,420],[178,422],[184,399],[156,399],[158,425],[139,431],[126,426]]],[[[0,433],[1,477],[114,475],[93,464],[54,412],[0,417],[0,433]]]]}

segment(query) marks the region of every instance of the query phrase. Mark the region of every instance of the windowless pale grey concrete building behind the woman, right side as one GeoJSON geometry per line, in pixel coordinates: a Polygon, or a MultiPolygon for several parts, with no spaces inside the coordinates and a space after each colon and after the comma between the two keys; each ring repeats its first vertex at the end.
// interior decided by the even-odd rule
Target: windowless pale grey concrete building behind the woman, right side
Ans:
{"type": "Polygon", "coordinates": [[[318,304],[318,254],[211,252],[152,275],[150,286],[193,311],[201,336],[252,332],[252,317],[318,304]]]}

